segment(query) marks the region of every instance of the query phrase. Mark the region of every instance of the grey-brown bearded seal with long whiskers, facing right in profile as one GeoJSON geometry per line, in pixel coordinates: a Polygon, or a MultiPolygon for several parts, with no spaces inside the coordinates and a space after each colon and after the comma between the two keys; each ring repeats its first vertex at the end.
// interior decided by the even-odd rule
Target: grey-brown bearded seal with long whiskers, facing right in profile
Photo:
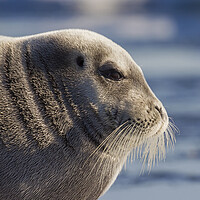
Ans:
{"type": "Polygon", "coordinates": [[[174,135],[120,46],[87,30],[0,37],[0,199],[95,200],[174,135]],[[140,154],[140,153],[139,153],[140,154]]]}

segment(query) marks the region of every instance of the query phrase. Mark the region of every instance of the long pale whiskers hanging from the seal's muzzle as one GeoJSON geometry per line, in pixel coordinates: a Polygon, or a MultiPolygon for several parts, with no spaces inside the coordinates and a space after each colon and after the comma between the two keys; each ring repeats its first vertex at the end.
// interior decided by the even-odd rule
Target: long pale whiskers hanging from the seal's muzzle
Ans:
{"type": "Polygon", "coordinates": [[[90,157],[95,158],[97,165],[103,168],[107,166],[106,162],[116,160],[124,163],[127,158],[131,161],[139,158],[143,163],[142,170],[146,164],[150,170],[156,160],[165,159],[166,147],[174,146],[176,130],[169,120],[162,120],[147,133],[136,120],[129,118],[108,135],[90,157]]]}

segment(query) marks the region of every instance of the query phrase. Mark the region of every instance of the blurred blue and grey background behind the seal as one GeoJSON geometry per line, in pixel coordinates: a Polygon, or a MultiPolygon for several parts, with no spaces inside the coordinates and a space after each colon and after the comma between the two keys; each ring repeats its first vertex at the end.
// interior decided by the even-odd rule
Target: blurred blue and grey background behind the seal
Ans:
{"type": "Polygon", "coordinates": [[[199,200],[200,1],[0,0],[0,35],[83,28],[124,47],[180,130],[165,162],[128,164],[100,200],[199,200]]]}

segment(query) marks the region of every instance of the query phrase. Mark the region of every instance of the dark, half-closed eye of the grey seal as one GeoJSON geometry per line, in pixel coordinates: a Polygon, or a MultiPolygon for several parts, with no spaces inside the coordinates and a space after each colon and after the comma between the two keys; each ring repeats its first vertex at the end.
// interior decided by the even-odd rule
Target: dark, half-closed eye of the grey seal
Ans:
{"type": "Polygon", "coordinates": [[[105,78],[111,79],[113,81],[120,81],[123,78],[123,75],[114,68],[105,69],[104,67],[102,67],[101,69],[99,69],[99,72],[105,78]]]}

